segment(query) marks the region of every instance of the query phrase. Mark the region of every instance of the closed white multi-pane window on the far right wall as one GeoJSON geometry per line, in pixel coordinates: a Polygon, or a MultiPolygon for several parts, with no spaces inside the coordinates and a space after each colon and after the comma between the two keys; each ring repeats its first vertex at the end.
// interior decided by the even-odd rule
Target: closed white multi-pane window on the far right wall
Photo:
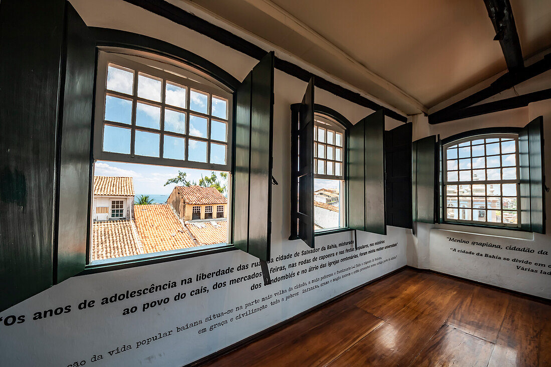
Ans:
{"type": "Polygon", "coordinates": [[[444,220],[521,226],[518,134],[486,134],[443,146],[444,220]]]}

